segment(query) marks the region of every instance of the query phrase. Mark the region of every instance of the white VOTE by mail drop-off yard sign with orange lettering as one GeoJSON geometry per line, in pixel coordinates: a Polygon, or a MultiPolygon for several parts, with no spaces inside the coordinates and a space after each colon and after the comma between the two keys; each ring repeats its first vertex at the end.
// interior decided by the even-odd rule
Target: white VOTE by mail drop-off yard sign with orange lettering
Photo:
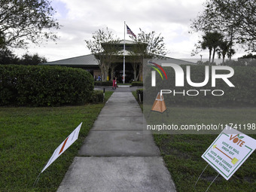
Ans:
{"type": "Polygon", "coordinates": [[[255,148],[255,139],[226,126],[202,157],[228,180],[255,148]]]}

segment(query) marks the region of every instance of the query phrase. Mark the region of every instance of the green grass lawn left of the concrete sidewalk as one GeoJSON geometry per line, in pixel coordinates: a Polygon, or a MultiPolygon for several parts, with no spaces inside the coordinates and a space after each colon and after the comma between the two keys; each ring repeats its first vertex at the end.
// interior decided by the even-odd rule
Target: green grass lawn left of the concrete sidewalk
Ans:
{"type": "MultiPolygon", "coordinates": [[[[105,93],[107,100],[113,92],[105,93]]],[[[0,191],[56,191],[104,104],[0,108],[0,191]],[[53,151],[81,123],[76,141],[33,183],[53,151]]]]}

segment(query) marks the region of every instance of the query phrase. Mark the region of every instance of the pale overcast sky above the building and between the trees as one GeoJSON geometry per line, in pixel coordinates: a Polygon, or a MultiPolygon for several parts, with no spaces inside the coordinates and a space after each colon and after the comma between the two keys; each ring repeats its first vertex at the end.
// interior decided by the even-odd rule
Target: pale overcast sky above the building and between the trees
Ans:
{"type": "MultiPolygon", "coordinates": [[[[105,27],[123,39],[126,21],[135,34],[139,33],[139,28],[161,33],[167,56],[194,59],[202,54],[203,59],[207,59],[207,50],[190,56],[200,34],[188,33],[190,20],[203,11],[203,2],[206,0],[53,0],[55,18],[62,25],[57,30],[59,40],[48,41],[40,47],[31,45],[28,50],[15,50],[15,53],[38,53],[48,61],[90,54],[85,39],[89,40],[93,32],[105,27]]],[[[126,39],[130,40],[128,35],[126,39]]],[[[241,50],[237,52],[234,58],[244,54],[241,50]]]]}

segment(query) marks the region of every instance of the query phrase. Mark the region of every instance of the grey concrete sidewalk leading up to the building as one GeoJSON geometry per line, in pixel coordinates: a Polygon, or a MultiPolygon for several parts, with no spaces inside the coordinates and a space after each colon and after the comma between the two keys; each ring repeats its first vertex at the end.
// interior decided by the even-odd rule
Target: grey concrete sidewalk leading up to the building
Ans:
{"type": "Polygon", "coordinates": [[[57,191],[175,191],[143,120],[132,93],[114,92],[57,191]]]}

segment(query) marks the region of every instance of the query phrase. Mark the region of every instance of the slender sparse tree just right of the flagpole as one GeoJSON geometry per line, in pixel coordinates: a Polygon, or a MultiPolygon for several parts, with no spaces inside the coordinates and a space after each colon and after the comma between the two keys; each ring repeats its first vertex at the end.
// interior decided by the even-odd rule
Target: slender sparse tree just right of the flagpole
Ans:
{"type": "Polygon", "coordinates": [[[153,57],[163,57],[166,55],[166,44],[163,42],[161,34],[156,34],[152,31],[146,33],[139,29],[140,33],[135,37],[130,35],[130,38],[135,41],[134,46],[130,51],[130,56],[133,59],[134,80],[138,81],[142,77],[143,59],[152,59],[153,57]],[[136,74],[136,69],[139,66],[139,74],[136,74]]]}

